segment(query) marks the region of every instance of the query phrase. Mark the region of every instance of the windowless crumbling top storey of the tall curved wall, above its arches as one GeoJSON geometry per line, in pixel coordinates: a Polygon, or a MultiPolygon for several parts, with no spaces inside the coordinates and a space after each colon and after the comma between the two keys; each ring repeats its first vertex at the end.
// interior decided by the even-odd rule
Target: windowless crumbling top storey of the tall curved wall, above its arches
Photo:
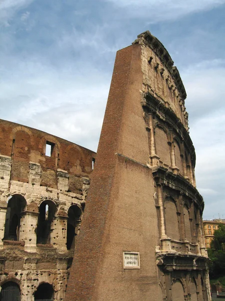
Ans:
{"type": "Polygon", "coordinates": [[[170,108],[188,130],[188,114],[184,106],[186,92],[167,50],[149,31],[138,35],[132,44],[141,45],[143,92],[152,94],[170,108]]]}

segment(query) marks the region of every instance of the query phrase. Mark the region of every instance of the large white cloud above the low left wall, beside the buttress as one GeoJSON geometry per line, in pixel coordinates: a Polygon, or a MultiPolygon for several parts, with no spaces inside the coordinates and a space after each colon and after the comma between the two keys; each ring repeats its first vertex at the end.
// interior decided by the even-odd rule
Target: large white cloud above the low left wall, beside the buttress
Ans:
{"type": "Polygon", "coordinates": [[[17,63],[13,78],[1,82],[1,118],[96,151],[111,74],[85,63],[82,68],[89,73],[82,75],[78,67],[54,69],[34,59],[17,63]]]}

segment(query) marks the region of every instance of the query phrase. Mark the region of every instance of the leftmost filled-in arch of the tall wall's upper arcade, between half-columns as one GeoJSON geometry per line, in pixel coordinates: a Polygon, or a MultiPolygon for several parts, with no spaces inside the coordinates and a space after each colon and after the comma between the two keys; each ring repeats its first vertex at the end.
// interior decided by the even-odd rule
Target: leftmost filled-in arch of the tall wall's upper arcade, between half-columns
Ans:
{"type": "Polygon", "coordinates": [[[159,123],[155,125],[155,149],[157,156],[160,158],[159,160],[170,166],[168,134],[165,127],[159,123]]]}

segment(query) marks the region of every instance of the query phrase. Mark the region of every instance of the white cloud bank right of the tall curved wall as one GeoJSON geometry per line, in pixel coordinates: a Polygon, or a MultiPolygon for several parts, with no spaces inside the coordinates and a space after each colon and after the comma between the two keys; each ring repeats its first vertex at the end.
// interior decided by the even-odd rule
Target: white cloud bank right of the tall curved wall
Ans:
{"type": "Polygon", "coordinates": [[[196,152],[195,178],[205,202],[204,218],[217,217],[225,210],[225,61],[212,59],[180,70],[187,92],[190,137],[196,152]]]}

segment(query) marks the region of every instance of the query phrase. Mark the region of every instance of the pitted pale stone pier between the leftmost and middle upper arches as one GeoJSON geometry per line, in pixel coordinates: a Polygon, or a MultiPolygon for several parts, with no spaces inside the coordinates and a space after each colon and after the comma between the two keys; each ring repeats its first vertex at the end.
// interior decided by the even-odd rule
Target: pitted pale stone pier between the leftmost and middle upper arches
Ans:
{"type": "Polygon", "coordinates": [[[38,212],[24,211],[21,213],[19,240],[25,242],[24,250],[36,252],[36,228],[38,212]]]}

